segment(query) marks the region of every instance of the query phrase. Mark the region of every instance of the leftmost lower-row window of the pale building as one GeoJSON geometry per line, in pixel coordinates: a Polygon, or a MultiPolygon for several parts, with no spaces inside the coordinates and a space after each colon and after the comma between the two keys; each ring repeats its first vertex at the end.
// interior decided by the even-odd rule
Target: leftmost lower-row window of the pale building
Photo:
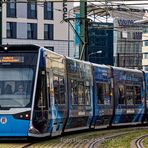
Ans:
{"type": "Polygon", "coordinates": [[[7,22],[7,38],[16,38],[16,22],[7,22]]]}

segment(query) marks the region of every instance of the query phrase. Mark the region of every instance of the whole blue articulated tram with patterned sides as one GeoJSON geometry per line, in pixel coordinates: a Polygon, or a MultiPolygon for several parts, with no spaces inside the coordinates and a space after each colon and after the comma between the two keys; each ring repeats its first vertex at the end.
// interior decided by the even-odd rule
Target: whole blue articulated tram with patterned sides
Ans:
{"type": "Polygon", "coordinates": [[[0,47],[0,137],[147,121],[147,72],[71,59],[35,45],[0,47]]]}

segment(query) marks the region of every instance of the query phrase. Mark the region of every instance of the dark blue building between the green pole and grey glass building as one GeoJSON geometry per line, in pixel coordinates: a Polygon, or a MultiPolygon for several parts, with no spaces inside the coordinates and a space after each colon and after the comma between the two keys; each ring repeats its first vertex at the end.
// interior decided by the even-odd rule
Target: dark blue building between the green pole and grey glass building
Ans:
{"type": "Polygon", "coordinates": [[[88,61],[113,65],[113,24],[91,22],[88,27],[88,61]]]}

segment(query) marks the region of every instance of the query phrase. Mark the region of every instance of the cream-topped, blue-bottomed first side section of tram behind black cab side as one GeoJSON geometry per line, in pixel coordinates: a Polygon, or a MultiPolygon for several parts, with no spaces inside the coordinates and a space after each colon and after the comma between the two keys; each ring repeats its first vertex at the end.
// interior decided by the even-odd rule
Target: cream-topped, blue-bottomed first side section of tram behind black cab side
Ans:
{"type": "Polygon", "coordinates": [[[57,136],[62,133],[68,112],[65,57],[46,52],[46,75],[49,98],[48,131],[51,136],[57,136]]]}

